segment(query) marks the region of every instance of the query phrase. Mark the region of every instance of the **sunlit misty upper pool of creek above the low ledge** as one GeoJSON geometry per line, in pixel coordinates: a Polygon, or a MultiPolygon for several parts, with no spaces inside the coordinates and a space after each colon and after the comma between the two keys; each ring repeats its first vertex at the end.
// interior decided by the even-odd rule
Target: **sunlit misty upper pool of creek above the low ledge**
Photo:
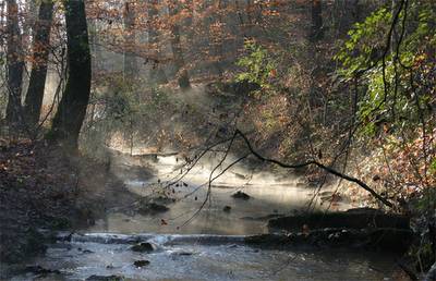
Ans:
{"type": "MultiPolygon", "coordinates": [[[[169,211],[143,216],[114,209],[108,211],[107,217],[97,221],[90,230],[118,233],[265,233],[268,216],[289,215],[305,209],[313,198],[315,191],[298,187],[295,179],[278,181],[270,173],[253,174],[240,166],[230,169],[213,183],[209,200],[202,211],[197,212],[206,199],[207,181],[218,160],[208,158],[198,162],[178,184],[167,190],[169,196],[175,199],[174,203],[167,205],[169,211]],[[251,198],[249,200],[232,198],[231,195],[238,191],[249,194],[251,198]],[[225,207],[227,211],[223,210],[225,207]],[[186,223],[186,221],[190,222],[186,223]]],[[[229,159],[228,162],[232,160],[229,159]]],[[[162,186],[168,181],[180,175],[180,162],[177,156],[142,158],[124,156],[119,157],[111,169],[124,180],[129,191],[142,196],[156,197],[160,196],[162,186]],[[132,178],[131,174],[125,174],[123,170],[118,169],[119,166],[132,164],[132,161],[136,161],[136,164],[141,164],[144,169],[154,171],[154,176],[132,178]]],[[[222,168],[225,167],[226,163],[222,168]]],[[[220,169],[215,174],[218,173],[220,169]]],[[[315,200],[314,206],[319,207],[318,199],[315,200]]],[[[337,209],[347,207],[346,204],[336,206],[337,209]]]]}

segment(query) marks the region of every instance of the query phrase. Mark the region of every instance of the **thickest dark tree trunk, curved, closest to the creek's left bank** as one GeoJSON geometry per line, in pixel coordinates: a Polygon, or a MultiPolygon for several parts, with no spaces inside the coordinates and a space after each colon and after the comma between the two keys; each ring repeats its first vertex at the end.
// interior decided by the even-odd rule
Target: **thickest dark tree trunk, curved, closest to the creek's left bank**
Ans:
{"type": "Polygon", "coordinates": [[[76,149],[90,91],[90,53],[84,0],[65,0],[68,81],[50,137],[76,149]]]}

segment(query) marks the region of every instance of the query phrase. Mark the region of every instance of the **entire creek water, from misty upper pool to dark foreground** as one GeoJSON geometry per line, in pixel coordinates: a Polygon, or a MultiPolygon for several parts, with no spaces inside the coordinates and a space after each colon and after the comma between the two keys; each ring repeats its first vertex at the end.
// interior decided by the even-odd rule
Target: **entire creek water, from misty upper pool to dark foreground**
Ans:
{"type": "MultiPolygon", "coordinates": [[[[204,204],[207,179],[217,161],[210,156],[166,188],[170,196],[165,199],[168,211],[141,215],[129,212],[125,206],[111,208],[105,218],[74,234],[71,241],[50,245],[33,265],[59,270],[45,280],[85,280],[92,276],[120,276],[128,280],[390,280],[396,267],[389,255],[246,245],[245,235],[268,232],[267,218],[305,209],[310,200],[318,209],[347,209],[350,204],[323,204],[319,196],[314,197],[315,191],[296,178],[278,180],[270,173],[253,173],[244,166],[217,179],[204,204]],[[251,198],[233,198],[231,195],[238,191],[251,198]],[[155,251],[133,252],[132,241],[147,241],[155,251]],[[149,264],[136,267],[137,260],[149,264]]],[[[119,155],[111,169],[129,192],[160,198],[166,183],[180,175],[180,162],[177,156],[119,155]],[[132,166],[150,173],[144,176],[123,172],[132,166]]],[[[20,273],[12,280],[33,278],[33,273],[20,273]]]]}

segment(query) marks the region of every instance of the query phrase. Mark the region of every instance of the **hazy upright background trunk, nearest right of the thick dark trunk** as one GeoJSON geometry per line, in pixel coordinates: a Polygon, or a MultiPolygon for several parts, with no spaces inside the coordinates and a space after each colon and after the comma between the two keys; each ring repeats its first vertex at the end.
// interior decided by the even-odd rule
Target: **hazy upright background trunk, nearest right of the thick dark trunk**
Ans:
{"type": "Polygon", "coordinates": [[[124,4],[124,78],[132,81],[137,76],[136,56],[133,51],[135,47],[135,7],[133,2],[126,1],[124,4]]]}

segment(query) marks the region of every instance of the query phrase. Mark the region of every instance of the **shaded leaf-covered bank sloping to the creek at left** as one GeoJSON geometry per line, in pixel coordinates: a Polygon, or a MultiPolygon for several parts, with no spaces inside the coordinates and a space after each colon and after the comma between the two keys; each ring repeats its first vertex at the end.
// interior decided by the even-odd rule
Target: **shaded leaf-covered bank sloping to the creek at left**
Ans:
{"type": "Polygon", "coordinates": [[[45,142],[0,139],[0,151],[2,262],[44,253],[47,233],[86,228],[108,206],[135,199],[104,164],[45,142]]]}

